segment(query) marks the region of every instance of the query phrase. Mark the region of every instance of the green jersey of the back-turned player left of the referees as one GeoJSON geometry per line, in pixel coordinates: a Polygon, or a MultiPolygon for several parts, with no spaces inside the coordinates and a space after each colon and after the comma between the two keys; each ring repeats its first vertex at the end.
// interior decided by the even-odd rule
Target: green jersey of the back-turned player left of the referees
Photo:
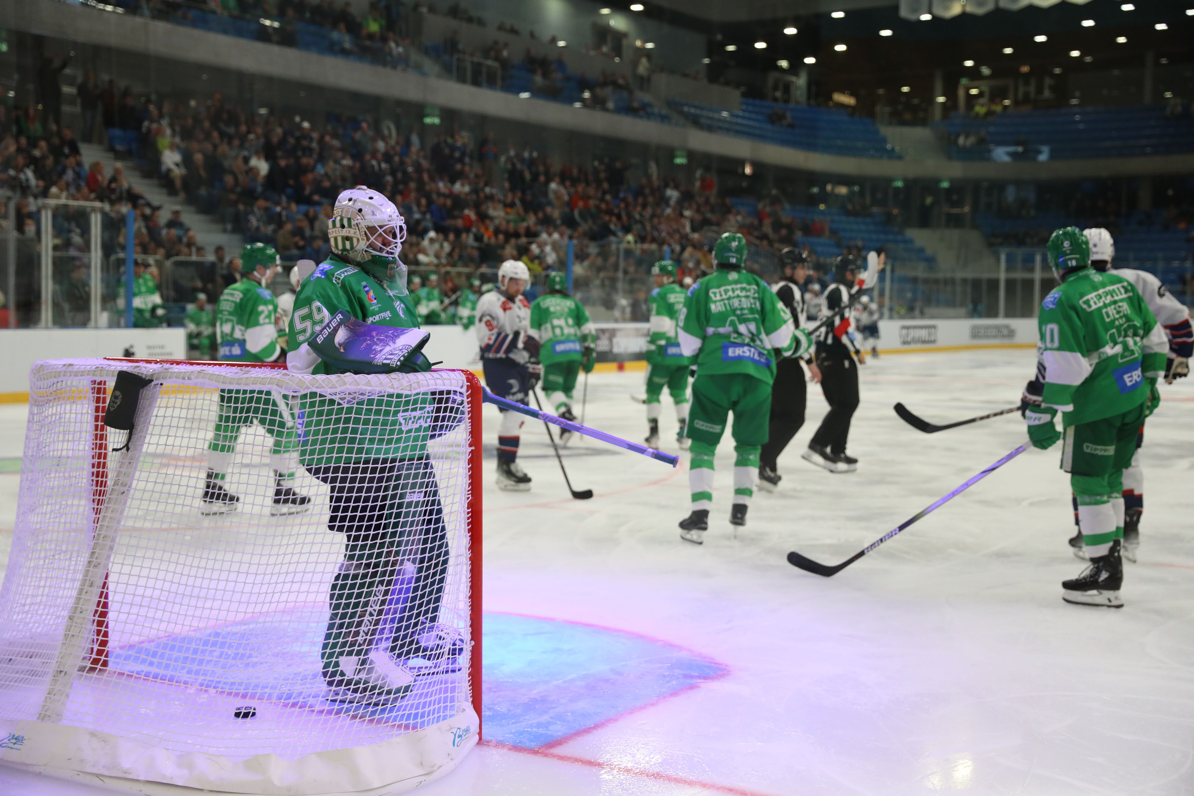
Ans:
{"type": "Polygon", "coordinates": [[[677,337],[681,351],[696,357],[701,374],[745,374],[770,384],[775,354],[800,356],[807,335],[796,335],[792,314],[762,279],[737,269],[718,269],[688,290],[677,337]]]}

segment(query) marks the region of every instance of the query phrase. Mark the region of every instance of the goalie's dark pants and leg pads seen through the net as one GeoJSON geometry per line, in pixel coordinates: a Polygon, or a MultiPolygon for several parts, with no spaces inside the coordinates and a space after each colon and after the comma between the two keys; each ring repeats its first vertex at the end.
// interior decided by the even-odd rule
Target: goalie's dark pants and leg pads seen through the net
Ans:
{"type": "Polygon", "coordinates": [[[330,487],[328,530],[345,536],[320,649],[325,679],[341,677],[338,668],[351,677],[341,659],[355,666],[383,644],[395,659],[413,656],[439,616],[448,573],[431,459],[374,458],[308,471],[330,487]]]}

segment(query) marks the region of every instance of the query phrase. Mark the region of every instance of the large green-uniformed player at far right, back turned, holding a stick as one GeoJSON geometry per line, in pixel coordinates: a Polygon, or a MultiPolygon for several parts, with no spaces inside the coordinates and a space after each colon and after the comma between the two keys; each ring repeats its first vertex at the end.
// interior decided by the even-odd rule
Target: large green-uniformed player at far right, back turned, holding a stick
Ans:
{"type": "Polygon", "coordinates": [[[1058,229],[1048,258],[1061,284],[1040,309],[1040,408],[1024,421],[1033,445],[1063,440],[1061,469],[1078,504],[1078,530],[1090,566],[1063,581],[1061,598],[1079,605],[1121,607],[1124,469],[1157,378],[1165,372],[1164,328],[1131,282],[1090,267],[1090,243],[1077,227],[1058,229]],[[1063,432],[1053,418],[1061,413],[1063,432]]]}

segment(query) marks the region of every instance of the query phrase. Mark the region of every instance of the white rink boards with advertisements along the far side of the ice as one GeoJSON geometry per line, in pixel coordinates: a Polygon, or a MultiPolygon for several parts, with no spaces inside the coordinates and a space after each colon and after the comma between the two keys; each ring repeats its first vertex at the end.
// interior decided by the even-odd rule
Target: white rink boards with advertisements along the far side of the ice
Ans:
{"type": "MultiPolygon", "coordinates": [[[[597,370],[640,370],[645,366],[646,323],[597,323],[597,370]]],[[[480,372],[481,358],[474,329],[431,326],[424,352],[439,368],[480,372]]],[[[1036,321],[907,320],[879,322],[881,353],[962,351],[972,348],[1032,348],[1036,321]]],[[[186,333],[167,329],[11,329],[0,333],[0,403],[29,400],[29,369],[39,359],[133,356],[184,359],[186,333]]]]}

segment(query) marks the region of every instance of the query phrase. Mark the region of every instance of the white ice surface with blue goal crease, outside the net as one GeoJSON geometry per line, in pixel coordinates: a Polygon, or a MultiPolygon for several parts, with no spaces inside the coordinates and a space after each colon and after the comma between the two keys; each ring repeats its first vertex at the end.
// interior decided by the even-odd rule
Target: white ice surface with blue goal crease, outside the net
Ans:
{"type": "MultiPolygon", "coordinates": [[[[837,563],[1026,439],[1018,415],[927,436],[896,401],[935,422],[1005,408],[1033,364],[1024,348],[868,362],[849,475],[799,457],[825,412],[812,387],[780,489],[756,494],[737,533],[722,443],[703,547],[676,527],[687,457],[671,470],[573,440],[573,487],[596,493],[576,501],[542,425],[528,422],[519,458],[533,492],[485,476],[482,741],[419,792],[1194,791],[1190,380],[1162,385],[1149,421],[1122,610],[1061,601],[1060,581],[1083,563],[1066,544],[1059,448],[1014,459],[832,579],[784,560],[837,563]]],[[[586,422],[640,439],[644,407],[629,395],[641,383],[595,374],[586,422]]],[[[25,412],[0,407],[4,560],[25,412]]],[[[488,470],[498,413],[485,412],[488,470]]],[[[672,418],[665,399],[664,432],[672,418]]],[[[100,791],[0,766],[0,792],[100,791]]]]}

